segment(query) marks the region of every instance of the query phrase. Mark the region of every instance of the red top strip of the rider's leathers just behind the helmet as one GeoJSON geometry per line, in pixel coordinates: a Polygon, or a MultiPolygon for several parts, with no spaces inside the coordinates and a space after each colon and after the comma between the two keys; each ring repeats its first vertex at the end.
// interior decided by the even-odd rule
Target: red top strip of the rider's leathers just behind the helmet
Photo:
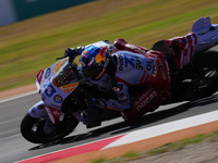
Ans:
{"type": "Polygon", "coordinates": [[[114,39],[113,45],[118,50],[126,50],[134,53],[145,54],[148,51],[148,49],[144,47],[130,45],[124,39],[121,39],[121,38],[114,39]]]}

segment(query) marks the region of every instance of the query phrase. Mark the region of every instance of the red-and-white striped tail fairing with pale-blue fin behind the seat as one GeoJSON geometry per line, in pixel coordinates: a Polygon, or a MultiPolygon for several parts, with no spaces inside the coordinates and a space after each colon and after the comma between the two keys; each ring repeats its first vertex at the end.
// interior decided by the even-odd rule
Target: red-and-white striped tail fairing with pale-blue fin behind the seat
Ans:
{"type": "Polygon", "coordinates": [[[191,33],[183,37],[173,37],[166,41],[174,57],[177,71],[180,71],[192,61],[195,53],[217,45],[218,25],[211,24],[209,17],[202,17],[193,24],[191,33]],[[172,40],[177,40],[179,53],[173,50],[172,40]]]}

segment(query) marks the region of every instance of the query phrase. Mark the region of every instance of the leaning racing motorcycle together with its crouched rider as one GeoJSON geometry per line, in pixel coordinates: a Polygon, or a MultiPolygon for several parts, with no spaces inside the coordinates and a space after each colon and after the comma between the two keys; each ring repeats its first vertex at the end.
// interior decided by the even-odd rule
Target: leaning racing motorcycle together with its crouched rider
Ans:
{"type": "Polygon", "coordinates": [[[124,39],[66,48],[60,61],[36,75],[41,100],[23,117],[21,134],[29,142],[48,143],[80,122],[86,128],[121,115],[134,122],[160,103],[209,98],[218,91],[217,45],[218,24],[201,17],[187,35],[160,40],[149,50],[124,39]]]}

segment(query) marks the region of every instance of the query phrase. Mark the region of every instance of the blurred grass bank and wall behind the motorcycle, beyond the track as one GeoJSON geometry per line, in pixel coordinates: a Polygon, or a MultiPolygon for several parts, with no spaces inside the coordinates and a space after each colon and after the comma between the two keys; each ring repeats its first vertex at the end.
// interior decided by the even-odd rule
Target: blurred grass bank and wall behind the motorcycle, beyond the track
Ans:
{"type": "Polygon", "coordinates": [[[68,47],[124,38],[150,48],[199,17],[218,24],[217,9],[217,0],[0,0],[0,91],[34,84],[68,47]]]}

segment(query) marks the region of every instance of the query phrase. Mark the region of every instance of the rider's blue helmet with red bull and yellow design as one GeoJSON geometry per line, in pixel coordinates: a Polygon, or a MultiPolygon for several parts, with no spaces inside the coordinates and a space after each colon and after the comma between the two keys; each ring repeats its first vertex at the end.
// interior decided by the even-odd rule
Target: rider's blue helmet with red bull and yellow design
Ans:
{"type": "Polygon", "coordinates": [[[82,52],[80,62],[89,79],[98,80],[105,75],[109,64],[109,46],[100,41],[88,46],[82,52]]]}

